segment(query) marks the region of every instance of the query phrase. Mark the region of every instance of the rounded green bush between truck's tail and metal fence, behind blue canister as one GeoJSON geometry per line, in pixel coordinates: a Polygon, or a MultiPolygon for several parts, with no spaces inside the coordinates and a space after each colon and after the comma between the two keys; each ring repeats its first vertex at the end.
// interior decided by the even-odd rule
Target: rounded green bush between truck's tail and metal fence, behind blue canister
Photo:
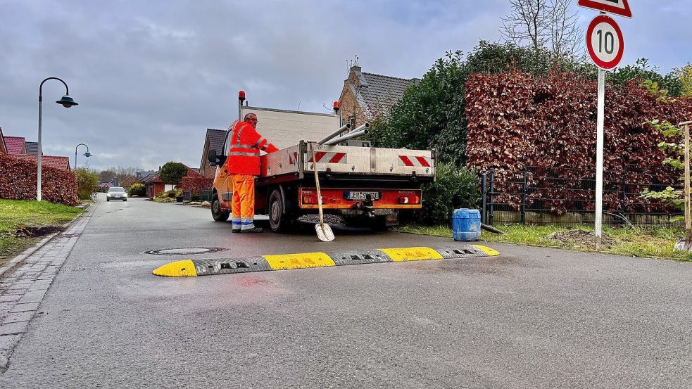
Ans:
{"type": "Polygon", "coordinates": [[[402,222],[439,225],[451,224],[457,208],[477,208],[481,200],[480,179],[476,170],[441,162],[435,168],[435,181],[422,185],[422,210],[402,222]]]}

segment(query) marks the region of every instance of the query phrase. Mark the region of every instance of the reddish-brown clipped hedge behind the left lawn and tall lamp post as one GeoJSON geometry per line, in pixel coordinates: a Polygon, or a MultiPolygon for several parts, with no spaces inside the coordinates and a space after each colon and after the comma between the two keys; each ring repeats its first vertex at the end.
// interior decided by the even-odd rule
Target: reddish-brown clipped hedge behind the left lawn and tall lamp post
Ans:
{"type": "MultiPolygon", "coordinates": [[[[0,198],[36,199],[36,162],[0,154],[0,198]]],[[[68,170],[42,166],[41,194],[51,203],[77,205],[77,177],[68,170]]]]}

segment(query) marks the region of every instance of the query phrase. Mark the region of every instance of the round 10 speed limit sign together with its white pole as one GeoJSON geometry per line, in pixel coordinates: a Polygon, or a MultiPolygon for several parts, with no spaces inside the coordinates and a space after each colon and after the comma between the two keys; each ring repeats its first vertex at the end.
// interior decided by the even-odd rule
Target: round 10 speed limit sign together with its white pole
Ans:
{"type": "Polygon", "coordinates": [[[586,30],[586,49],[598,68],[598,119],[596,120],[596,249],[603,237],[603,127],[605,115],[605,70],[615,68],[622,60],[624,40],[620,27],[607,15],[591,20],[586,30]]]}

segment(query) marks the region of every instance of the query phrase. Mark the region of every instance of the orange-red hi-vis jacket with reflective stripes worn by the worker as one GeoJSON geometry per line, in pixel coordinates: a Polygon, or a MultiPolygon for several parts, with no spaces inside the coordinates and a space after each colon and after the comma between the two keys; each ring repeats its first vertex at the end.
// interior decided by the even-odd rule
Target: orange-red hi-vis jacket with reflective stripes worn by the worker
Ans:
{"type": "Polygon", "coordinates": [[[276,146],[257,133],[246,122],[237,122],[229,140],[228,172],[231,174],[260,175],[260,150],[279,151],[276,146]]]}

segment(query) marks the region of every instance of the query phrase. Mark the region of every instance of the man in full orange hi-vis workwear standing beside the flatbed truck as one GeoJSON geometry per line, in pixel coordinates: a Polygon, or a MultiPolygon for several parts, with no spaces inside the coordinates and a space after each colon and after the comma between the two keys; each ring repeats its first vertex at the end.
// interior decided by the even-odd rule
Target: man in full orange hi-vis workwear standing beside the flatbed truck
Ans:
{"type": "Polygon", "coordinates": [[[279,151],[255,130],[257,115],[249,113],[242,122],[235,123],[228,153],[228,172],[233,182],[231,220],[233,232],[262,232],[255,227],[255,176],[260,174],[260,150],[279,151]]]}

